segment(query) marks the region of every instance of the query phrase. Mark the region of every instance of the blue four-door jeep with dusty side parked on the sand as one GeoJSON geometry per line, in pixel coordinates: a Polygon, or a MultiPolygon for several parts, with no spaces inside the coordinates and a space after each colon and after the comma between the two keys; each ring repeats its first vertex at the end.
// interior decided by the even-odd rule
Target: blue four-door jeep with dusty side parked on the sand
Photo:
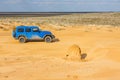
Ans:
{"type": "Polygon", "coordinates": [[[55,38],[50,31],[42,31],[37,26],[17,26],[13,30],[12,36],[19,40],[20,43],[25,43],[28,40],[52,42],[55,38]]]}

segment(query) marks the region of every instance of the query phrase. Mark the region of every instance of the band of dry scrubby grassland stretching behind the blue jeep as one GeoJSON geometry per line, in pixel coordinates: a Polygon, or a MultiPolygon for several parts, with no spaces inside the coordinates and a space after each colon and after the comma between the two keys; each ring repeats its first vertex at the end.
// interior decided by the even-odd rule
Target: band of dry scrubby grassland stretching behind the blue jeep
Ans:
{"type": "MultiPolygon", "coordinates": [[[[0,17],[0,25],[14,28],[19,25],[60,27],[80,26],[80,25],[112,25],[120,26],[120,13],[71,13],[69,15],[57,15],[47,17],[0,17]]],[[[60,28],[56,28],[60,30],[60,28]]]]}

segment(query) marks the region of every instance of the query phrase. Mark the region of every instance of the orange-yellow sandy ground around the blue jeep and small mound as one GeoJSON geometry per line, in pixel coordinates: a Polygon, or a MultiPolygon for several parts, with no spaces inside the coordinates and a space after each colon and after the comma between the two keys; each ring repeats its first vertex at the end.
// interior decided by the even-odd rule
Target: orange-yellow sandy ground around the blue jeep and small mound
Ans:
{"type": "MultiPolygon", "coordinates": [[[[119,27],[78,26],[49,30],[58,41],[20,44],[12,38],[11,31],[0,29],[0,80],[120,79],[119,27]],[[87,54],[85,61],[65,59],[74,44],[80,47],[80,54],[87,54]]],[[[72,50],[79,51],[75,47],[72,50]]]]}

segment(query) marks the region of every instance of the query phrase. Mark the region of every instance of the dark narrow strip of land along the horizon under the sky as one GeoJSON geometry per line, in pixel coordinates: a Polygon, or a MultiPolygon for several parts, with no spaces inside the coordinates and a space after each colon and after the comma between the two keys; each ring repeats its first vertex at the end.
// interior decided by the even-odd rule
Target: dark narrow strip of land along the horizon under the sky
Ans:
{"type": "Polygon", "coordinates": [[[57,15],[85,14],[85,13],[110,13],[110,12],[0,12],[0,16],[46,17],[46,16],[57,16],[57,15]]]}

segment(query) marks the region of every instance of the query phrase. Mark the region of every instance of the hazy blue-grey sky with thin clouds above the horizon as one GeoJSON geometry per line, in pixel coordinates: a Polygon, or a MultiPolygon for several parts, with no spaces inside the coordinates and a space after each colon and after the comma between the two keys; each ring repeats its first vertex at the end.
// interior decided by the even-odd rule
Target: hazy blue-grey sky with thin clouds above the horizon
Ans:
{"type": "Polygon", "coordinates": [[[0,12],[120,11],[120,0],[0,0],[0,12]]]}

